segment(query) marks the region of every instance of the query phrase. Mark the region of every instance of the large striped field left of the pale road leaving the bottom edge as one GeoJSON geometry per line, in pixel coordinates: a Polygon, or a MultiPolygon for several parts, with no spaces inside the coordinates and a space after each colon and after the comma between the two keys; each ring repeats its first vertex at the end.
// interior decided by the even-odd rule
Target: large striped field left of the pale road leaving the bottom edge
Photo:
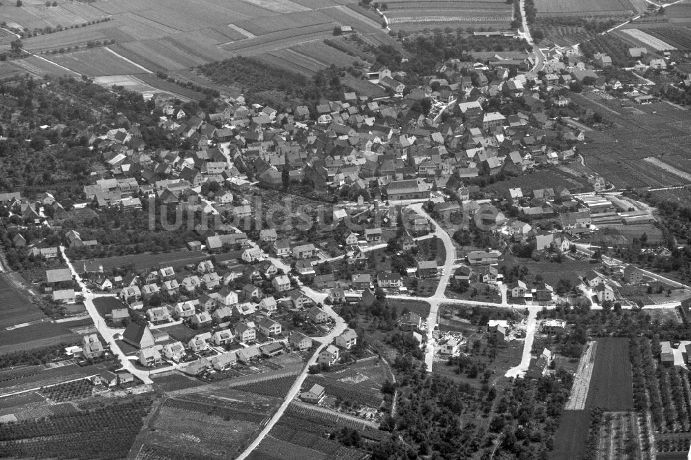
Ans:
{"type": "Polygon", "coordinates": [[[149,422],[153,429],[144,434],[142,452],[173,451],[184,458],[234,457],[281,403],[281,399],[220,387],[186,393],[167,399],[149,422]]]}

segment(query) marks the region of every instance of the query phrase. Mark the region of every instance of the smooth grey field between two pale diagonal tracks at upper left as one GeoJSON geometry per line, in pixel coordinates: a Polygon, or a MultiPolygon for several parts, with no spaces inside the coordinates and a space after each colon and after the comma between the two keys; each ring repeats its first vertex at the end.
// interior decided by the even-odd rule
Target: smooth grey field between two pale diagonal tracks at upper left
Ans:
{"type": "Polygon", "coordinates": [[[142,72],[141,68],[114,55],[106,48],[92,48],[64,55],[52,55],[46,58],[87,77],[142,72]]]}

